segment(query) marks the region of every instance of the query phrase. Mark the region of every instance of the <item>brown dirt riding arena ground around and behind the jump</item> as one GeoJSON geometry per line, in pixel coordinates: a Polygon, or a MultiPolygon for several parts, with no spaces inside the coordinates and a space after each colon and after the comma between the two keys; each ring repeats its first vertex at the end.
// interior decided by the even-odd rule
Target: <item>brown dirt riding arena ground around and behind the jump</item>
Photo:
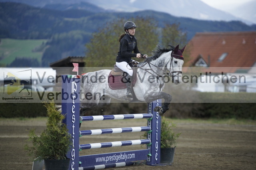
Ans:
{"type": "MultiPolygon", "coordinates": [[[[172,166],[137,166],[121,170],[254,170],[256,169],[256,121],[172,120],[181,132],[172,166]]],[[[32,160],[23,147],[29,129],[36,133],[45,128],[46,118],[0,119],[0,170],[31,170],[32,160]]],[[[145,120],[101,121],[82,124],[82,129],[144,126],[145,120]]],[[[98,143],[140,139],[142,133],[122,133],[82,137],[80,143],[98,143]]],[[[81,154],[143,149],[145,146],[83,150],[81,154]]]]}

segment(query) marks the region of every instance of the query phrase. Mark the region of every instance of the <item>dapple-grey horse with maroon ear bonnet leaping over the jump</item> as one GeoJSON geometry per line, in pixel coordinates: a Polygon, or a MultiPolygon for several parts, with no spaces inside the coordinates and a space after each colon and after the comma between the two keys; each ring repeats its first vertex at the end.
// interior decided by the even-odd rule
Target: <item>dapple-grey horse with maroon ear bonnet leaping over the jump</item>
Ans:
{"type": "MultiPolygon", "coordinates": [[[[110,104],[111,98],[132,102],[137,99],[137,102],[150,103],[157,99],[164,99],[164,105],[162,107],[156,107],[154,110],[158,111],[160,115],[163,115],[168,109],[172,100],[172,96],[165,92],[164,89],[164,77],[172,77],[174,84],[179,84],[182,75],[182,65],[184,58],[182,53],[183,49],[179,49],[179,45],[176,47],[170,46],[169,49],[156,47],[152,51],[152,56],[147,57],[143,62],[138,63],[136,78],[137,81],[134,84],[133,98],[126,97],[126,89],[113,90],[109,86],[109,76],[112,70],[98,70],[94,72],[88,72],[81,76],[80,90],[83,98],[80,99],[80,115],[95,107],[102,107],[110,104]],[[102,93],[103,92],[103,93],[102,93]]],[[[126,81],[126,77],[122,79],[126,81]]]]}

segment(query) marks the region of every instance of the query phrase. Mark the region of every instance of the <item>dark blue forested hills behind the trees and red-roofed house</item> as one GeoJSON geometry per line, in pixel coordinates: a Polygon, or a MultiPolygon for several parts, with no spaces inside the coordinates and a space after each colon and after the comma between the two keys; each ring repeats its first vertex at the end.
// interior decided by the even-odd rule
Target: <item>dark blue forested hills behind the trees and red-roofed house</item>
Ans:
{"type": "MultiPolygon", "coordinates": [[[[74,6],[76,5],[72,5],[74,6]]],[[[48,66],[49,63],[70,55],[84,55],[84,45],[90,41],[92,33],[97,32],[106,23],[118,18],[130,20],[138,17],[152,18],[159,28],[164,27],[166,23],[180,24],[180,29],[187,33],[188,40],[196,32],[256,30],[256,25],[246,25],[241,21],[196,20],[153,10],[92,12],[69,9],[69,6],[65,5],[60,5],[60,10],[53,10],[14,2],[0,2],[0,38],[48,39],[39,48],[43,52],[42,66],[48,66]]]]}

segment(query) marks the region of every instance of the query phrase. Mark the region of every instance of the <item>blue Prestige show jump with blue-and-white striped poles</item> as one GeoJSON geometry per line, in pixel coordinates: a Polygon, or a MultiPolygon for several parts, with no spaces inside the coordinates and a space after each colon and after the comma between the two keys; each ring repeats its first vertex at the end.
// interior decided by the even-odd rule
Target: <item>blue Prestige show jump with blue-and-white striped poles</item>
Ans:
{"type": "Polygon", "coordinates": [[[66,154],[67,158],[70,158],[69,170],[102,169],[128,166],[134,164],[133,162],[138,160],[146,160],[147,164],[151,166],[160,164],[161,117],[158,115],[158,112],[153,111],[156,106],[160,106],[160,100],[156,100],[148,104],[148,113],[80,117],[80,79],[72,78],[74,76],[64,75],[62,80],[66,80],[66,76],[70,77],[71,81],[62,82],[62,114],[66,115],[63,122],[66,123],[72,138],[70,151],[66,154]],[[86,131],[79,130],[81,121],[120,119],[148,119],[148,126],[94,129],[86,131]],[[148,139],[91,144],[79,143],[79,137],[82,135],[101,135],[109,133],[126,133],[139,131],[147,131],[148,139]],[[82,149],[143,144],[147,145],[146,149],[83,156],[79,155],[79,150],[82,149]]]}

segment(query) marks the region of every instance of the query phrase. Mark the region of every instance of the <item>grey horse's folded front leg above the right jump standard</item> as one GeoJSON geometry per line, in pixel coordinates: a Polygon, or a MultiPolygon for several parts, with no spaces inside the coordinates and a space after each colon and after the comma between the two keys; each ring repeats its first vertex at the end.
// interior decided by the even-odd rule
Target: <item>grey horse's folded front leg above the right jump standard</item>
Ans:
{"type": "Polygon", "coordinates": [[[164,106],[157,106],[154,108],[154,111],[158,111],[160,116],[163,116],[164,113],[169,109],[169,104],[172,101],[172,96],[165,92],[150,92],[146,98],[146,102],[150,103],[157,99],[164,99],[164,106]]]}

